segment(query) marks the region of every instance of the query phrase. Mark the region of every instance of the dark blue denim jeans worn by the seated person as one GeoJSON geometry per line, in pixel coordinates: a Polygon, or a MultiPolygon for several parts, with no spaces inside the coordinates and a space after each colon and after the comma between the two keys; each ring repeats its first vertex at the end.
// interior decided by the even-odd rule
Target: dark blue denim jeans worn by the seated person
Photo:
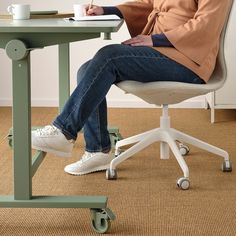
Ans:
{"type": "Polygon", "coordinates": [[[124,80],[204,83],[191,70],[153,48],[122,44],[101,48],[81,66],[77,79],[77,87],[53,125],[74,140],[83,128],[85,149],[89,152],[105,152],[111,148],[106,94],[113,84],[124,80]]]}

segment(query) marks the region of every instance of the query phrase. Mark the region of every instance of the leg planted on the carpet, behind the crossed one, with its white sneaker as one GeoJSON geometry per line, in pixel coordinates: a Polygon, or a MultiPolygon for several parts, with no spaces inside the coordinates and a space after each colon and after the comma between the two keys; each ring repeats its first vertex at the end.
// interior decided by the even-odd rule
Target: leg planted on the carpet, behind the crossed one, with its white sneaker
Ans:
{"type": "MultiPolygon", "coordinates": [[[[83,64],[77,73],[77,85],[86,73],[90,61],[83,64]]],[[[107,105],[104,99],[93,111],[83,127],[85,153],[79,161],[65,166],[64,171],[72,175],[82,175],[109,167],[111,142],[107,130],[107,105]]]]}

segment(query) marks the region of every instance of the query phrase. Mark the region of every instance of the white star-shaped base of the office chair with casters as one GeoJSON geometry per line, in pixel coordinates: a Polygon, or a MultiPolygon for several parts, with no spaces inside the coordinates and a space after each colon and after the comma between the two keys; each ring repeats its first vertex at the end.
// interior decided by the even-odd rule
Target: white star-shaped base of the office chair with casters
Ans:
{"type": "MultiPolygon", "coordinates": [[[[121,162],[125,161],[129,157],[133,156],[135,153],[144,149],[154,142],[160,142],[160,158],[168,159],[169,158],[169,149],[173,152],[177,162],[179,163],[184,177],[180,178],[183,182],[183,186],[179,186],[179,182],[177,185],[182,189],[189,188],[189,169],[188,166],[181,154],[181,151],[176,144],[176,141],[180,141],[181,143],[187,143],[199,147],[203,150],[209,151],[211,153],[217,154],[224,158],[223,162],[223,171],[231,171],[231,162],[229,160],[229,154],[213,145],[210,145],[206,142],[203,142],[199,139],[196,139],[192,136],[184,134],[178,130],[170,128],[170,117],[168,116],[168,106],[163,106],[163,114],[160,118],[160,128],[152,129],[150,131],[120,140],[116,143],[116,151],[117,155],[110,163],[110,168],[108,169],[107,178],[108,179],[116,179],[116,167],[121,162]],[[134,144],[132,147],[128,148],[126,151],[119,153],[120,147],[134,144]],[[188,182],[188,183],[187,183],[188,182]]],[[[179,179],[179,181],[180,181],[179,179]]]]}

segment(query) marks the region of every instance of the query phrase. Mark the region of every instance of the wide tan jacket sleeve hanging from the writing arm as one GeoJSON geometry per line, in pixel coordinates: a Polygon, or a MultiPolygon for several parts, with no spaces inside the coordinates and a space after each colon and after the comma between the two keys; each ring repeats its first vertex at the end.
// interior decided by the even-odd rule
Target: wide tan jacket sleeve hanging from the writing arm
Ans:
{"type": "Polygon", "coordinates": [[[116,6],[123,15],[131,37],[141,34],[153,9],[152,0],[127,2],[116,6]]]}

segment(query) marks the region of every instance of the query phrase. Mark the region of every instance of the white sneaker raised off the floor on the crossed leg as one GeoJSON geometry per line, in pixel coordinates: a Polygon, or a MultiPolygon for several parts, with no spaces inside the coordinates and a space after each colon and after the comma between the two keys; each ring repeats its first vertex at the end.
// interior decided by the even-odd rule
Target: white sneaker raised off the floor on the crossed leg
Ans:
{"type": "Polygon", "coordinates": [[[61,157],[71,156],[74,142],[67,140],[65,135],[53,125],[32,131],[32,148],[53,153],[61,157]]]}

